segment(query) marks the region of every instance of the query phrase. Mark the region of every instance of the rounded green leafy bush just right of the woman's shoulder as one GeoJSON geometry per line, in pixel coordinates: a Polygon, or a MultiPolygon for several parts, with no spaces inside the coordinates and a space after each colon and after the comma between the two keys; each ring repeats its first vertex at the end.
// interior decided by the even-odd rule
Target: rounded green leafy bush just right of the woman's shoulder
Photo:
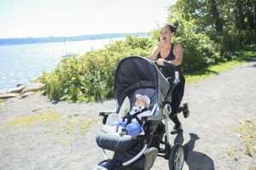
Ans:
{"type": "Polygon", "coordinates": [[[199,71],[218,62],[218,48],[209,37],[195,33],[192,22],[181,20],[175,42],[183,44],[183,71],[199,71]]]}

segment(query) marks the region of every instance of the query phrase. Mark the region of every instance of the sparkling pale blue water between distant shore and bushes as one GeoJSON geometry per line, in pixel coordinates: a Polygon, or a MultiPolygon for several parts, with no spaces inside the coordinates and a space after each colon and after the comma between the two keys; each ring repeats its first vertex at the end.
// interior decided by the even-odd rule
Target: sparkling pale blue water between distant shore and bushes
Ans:
{"type": "MultiPolygon", "coordinates": [[[[124,38],[113,39],[119,40],[124,38]]],[[[66,52],[84,54],[91,48],[99,49],[111,39],[76,42],[50,42],[0,46],[0,90],[15,88],[19,83],[30,83],[43,71],[53,71],[66,52]]]]}

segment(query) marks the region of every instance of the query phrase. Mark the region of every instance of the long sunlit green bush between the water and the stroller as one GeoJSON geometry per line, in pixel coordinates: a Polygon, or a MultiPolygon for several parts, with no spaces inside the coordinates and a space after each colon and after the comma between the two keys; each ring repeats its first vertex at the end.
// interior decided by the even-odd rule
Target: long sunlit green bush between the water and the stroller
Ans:
{"type": "Polygon", "coordinates": [[[83,102],[113,97],[113,77],[120,59],[148,56],[152,43],[147,37],[127,36],[105,48],[61,59],[55,70],[38,80],[46,84],[49,98],[83,102]]]}

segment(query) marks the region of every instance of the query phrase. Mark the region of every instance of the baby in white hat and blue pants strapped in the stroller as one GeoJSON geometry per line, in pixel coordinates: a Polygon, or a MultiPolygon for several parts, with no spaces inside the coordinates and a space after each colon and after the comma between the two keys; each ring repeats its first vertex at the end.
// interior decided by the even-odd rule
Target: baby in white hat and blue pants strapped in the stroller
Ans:
{"type": "MultiPolygon", "coordinates": [[[[150,99],[147,95],[137,94],[136,101],[131,108],[130,115],[134,115],[137,112],[141,112],[137,115],[138,119],[141,120],[143,116],[151,116],[151,111],[149,111],[150,99]]],[[[125,114],[123,115],[125,117],[125,114]]],[[[127,119],[124,122],[113,122],[111,125],[104,125],[102,130],[107,133],[125,133],[134,134],[141,133],[142,127],[136,118],[132,118],[131,122],[127,124],[127,119]],[[126,126],[126,127],[125,127],[126,126]]]]}

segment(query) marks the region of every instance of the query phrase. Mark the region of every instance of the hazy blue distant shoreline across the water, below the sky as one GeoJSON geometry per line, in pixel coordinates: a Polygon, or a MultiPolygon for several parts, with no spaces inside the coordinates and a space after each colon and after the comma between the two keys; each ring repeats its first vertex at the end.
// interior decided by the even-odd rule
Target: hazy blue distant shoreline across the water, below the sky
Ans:
{"type": "Polygon", "coordinates": [[[109,39],[130,36],[148,37],[147,32],[132,32],[132,33],[110,33],[110,34],[93,34],[77,37],[14,37],[14,38],[1,38],[0,46],[32,44],[32,43],[49,43],[49,42],[71,42],[71,41],[84,41],[96,39],[109,39]]]}

